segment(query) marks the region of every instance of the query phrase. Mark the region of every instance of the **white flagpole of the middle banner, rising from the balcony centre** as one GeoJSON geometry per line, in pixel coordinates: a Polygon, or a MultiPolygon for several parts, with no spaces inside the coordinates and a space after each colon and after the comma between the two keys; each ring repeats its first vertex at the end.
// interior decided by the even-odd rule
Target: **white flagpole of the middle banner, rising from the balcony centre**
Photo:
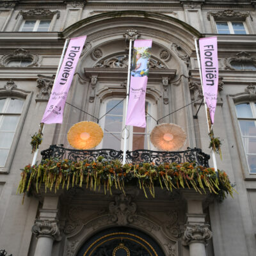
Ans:
{"type": "MultiPolygon", "coordinates": [[[[126,88],[126,102],[125,102],[125,122],[127,118],[127,108],[130,92],[130,78],[131,78],[131,53],[132,53],[132,39],[130,39],[129,44],[129,61],[128,61],[128,74],[127,74],[127,88],[126,88]]],[[[127,149],[127,125],[124,128],[124,154],[123,154],[123,165],[126,161],[126,149],[127,149]]]]}

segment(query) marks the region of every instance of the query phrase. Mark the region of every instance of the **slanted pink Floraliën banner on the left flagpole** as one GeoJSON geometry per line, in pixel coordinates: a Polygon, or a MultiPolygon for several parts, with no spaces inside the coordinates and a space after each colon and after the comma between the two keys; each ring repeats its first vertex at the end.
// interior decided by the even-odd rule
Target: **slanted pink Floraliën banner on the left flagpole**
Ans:
{"type": "Polygon", "coordinates": [[[74,77],[76,65],[83,50],[86,36],[71,38],[60,72],[52,87],[51,96],[45,109],[42,123],[61,124],[68,90],[74,77]]]}

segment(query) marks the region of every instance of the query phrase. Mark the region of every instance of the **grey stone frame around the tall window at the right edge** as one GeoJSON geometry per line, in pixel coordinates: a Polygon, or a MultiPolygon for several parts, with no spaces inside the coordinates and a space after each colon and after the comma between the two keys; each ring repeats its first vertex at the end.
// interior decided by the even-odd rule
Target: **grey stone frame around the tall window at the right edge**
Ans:
{"type": "Polygon", "coordinates": [[[252,96],[249,92],[237,93],[236,95],[227,95],[228,106],[230,109],[230,116],[234,127],[234,137],[237,143],[238,156],[240,158],[241,169],[244,180],[256,180],[256,173],[250,173],[249,166],[246,159],[246,152],[244,150],[243,139],[241,136],[241,129],[236,113],[236,105],[245,102],[252,102],[256,100],[256,95],[252,96]]]}

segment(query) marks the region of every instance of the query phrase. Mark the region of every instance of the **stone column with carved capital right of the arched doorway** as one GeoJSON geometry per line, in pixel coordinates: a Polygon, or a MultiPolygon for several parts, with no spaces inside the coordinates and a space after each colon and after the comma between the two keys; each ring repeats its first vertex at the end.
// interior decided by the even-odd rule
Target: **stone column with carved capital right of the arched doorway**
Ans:
{"type": "Polygon", "coordinates": [[[183,244],[189,246],[189,256],[206,256],[205,246],[212,237],[210,226],[205,224],[205,214],[202,206],[207,195],[184,191],[183,196],[188,204],[183,244]]]}

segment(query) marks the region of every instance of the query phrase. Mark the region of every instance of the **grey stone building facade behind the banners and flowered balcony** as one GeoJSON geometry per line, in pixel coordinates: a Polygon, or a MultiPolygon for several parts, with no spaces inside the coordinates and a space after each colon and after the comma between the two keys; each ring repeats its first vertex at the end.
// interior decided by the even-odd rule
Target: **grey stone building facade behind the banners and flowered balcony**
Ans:
{"type": "MultiPolygon", "coordinates": [[[[255,8],[254,0],[0,1],[0,250],[13,256],[115,255],[109,254],[116,248],[110,242],[90,246],[106,237],[129,236],[124,247],[133,248],[131,255],[255,255],[255,8]],[[220,83],[214,132],[223,140],[223,160],[217,157],[217,162],[236,183],[234,198],[219,203],[188,189],[157,188],[156,198],[146,199],[136,187],[128,188],[127,196],[73,188],[40,191],[22,205],[23,195],[16,195],[20,168],[32,161],[29,142],[49,99],[65,39],[83,35],[88,37],[64,122],[45,125],[40,150],[52,144],[70,148],[67,131],[73,124],[95,121],[86,113],[100,117],[108,104],[125,97],[125,39],[134,36],[153,40],[148,113],[159,119],[190,104],[161,122],[186,131],[182,150],[197,147],[210,154],[194,39],[216,35],[220,83]]],[[[99,124],[103,128],[108,122],[102,118],[99,124]]],[[[154,125],[148,118],[148,132],[154,125]]],[[[106,132],[99,148],[120,149],[122,129],[115,132],[119,142],[108,140],[106,132]]],[[[129,150],[134,143],[130,136],[129,150]]],[[[150,144],[147,149],[154,150],[150,144]]]]}

